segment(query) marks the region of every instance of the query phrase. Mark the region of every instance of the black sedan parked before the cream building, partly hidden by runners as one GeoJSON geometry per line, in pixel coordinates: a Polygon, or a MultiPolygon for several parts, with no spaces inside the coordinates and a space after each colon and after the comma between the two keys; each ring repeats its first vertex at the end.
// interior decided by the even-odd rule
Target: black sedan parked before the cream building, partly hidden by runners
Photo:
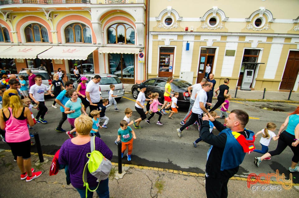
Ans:
{"type": "MultiPolygon", "coordinates": [[[[164,103],[164,92],[165,92],[165,84],[167,81],[167,77],[157,77],[157,78],[150,78],[146,81],[143,82],[143,84],[147,85],[148,87],[146,88],[145,96],[147,97],[147,92],[158,92],[159,93],[159,102],[162,104],[164,103]]],[[[139,91],[138,87],[140,84],[135,84],[131,88],[131,92],[133,94],[133,97],[136,99],[139,91]]],[[[184,109],[184,108],[189,108],[190,106],[190,96],[188,93],[187,88],[191,86],[191,84],[187,81],[181,80],[181,79],[174,79],[172,83],[170,83],[171,88],[173,89],[174,92],[178,92],[178,106],[179,110],[184,109]]],[[[173,93],[173,92],[171,92],[173,93]]]]}

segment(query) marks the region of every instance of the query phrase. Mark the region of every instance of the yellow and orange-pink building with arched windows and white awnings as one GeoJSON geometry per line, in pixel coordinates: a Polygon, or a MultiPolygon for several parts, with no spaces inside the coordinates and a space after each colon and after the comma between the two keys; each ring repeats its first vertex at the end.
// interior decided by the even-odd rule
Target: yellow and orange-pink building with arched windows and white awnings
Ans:
{"type": "Polygon", "coordinates": [[[43,64],[53,75],[77,64],[81,73],[144,80],[145,8],[144,0],[1,1],[0,67],[17,73],[43,64]]]}

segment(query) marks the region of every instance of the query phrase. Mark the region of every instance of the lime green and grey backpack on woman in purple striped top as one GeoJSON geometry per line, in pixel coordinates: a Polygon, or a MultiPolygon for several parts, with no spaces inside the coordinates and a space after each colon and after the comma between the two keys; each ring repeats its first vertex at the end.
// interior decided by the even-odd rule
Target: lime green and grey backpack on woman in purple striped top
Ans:
{"type": "Polygon", "coordinates": [[[95,136],[90,137],[90,150],[91,153],[86,154],[86,156],[89,159],[85,164],[83,170],[83,183],[84,183],[83,186],[86,186],[86,197],[87,197],[87,190],[94,192],[97,190],[100,184],[99,183],[97,185],[97,188],[94,190],[89,189],[89,185],[87,182],[87,170],[86,170],[87,167],[90,174],[92,174],[94,177],[97,177],[97,182],[107,179],[109,177],[112,168],[112,164],[110,160],[106,159],[100,151],[95,150],[95,136]]]}

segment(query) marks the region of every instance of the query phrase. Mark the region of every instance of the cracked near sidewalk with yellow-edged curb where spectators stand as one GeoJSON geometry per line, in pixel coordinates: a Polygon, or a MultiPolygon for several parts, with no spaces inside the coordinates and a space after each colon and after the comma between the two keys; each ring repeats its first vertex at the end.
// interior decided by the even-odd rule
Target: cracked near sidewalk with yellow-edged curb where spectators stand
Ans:
{"type": "MultiPolygon", "coordinates": [[[[38,163],[39,158],[33,153],[32,167],[43,174],[31,182],[20,180],[20,171],[9,150],[0,150],[0,156],[1,197],[79,197],[72,185],[66,185],[64,170],[49,176],[53,156],[44,155],[45,162],[38,163]]],[[[113,165],[110,197],[206,197],[203,174],[126,165],[120,178],[117,164],[113,165]]],[[[293,186],[289,190],[253,191],[247,188],[247,178],[233,177],[228,182],[228,197],[298,197],[297,189],[293,186]]]]}

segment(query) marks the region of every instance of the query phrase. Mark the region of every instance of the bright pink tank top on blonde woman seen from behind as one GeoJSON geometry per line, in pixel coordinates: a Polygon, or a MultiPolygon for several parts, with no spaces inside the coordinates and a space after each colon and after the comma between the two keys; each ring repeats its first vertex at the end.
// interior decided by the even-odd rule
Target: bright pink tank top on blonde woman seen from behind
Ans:
{"type": "MultiPolygon", "coordinates": [[[[24,142],[30,139],[29,130],[27,127],[27,118],[24,117],[24,110],[25,108],[23,108],[21,116],[17,119],[12,115],[12,108],[8,107],[10,115],[5,121],[5,139],[7,142],[24,142]]],[[[2,114],[5,120],[6,117],[3,111],[2,114]]]]}

